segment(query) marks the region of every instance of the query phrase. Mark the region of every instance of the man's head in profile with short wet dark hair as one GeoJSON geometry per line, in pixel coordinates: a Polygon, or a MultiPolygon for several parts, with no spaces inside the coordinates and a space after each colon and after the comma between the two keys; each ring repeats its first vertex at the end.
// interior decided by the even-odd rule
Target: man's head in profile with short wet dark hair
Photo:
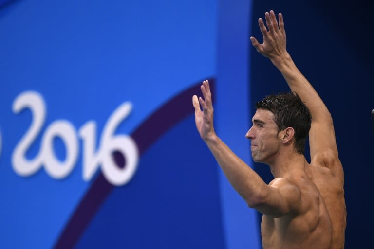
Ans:
{"type": "MultiPolygon", "coordinates": [[[[305,142],[312,122],[312,116],[299,95],[291,92],[269,95],[258,102],[256,107],[257,111],[252,120],[253,126],[246,135],[247,138],[254,140],[254,143],[259,143],[253,146],[252,154],[256,149],[260,150],[262,154],[264,150],[270,150],[266,154],[271,153],[271,151],[276,153],[278,151],[277,141],[281,144],[282,140],[285,141],[284,143],[293,142],[293,149],[299,154],[304,154],[305,142]],[[264,125],[262,122],[266,124],[264,125]],[[265,133],[268,134],[265,135],[265,133]],[[278,140],[272,141],[271,138],[274,138],[273,135],[278,140]],[[258,137],[258,140],[256,137],[258,137]],[[267,146],[263,143],[267,143],[267,146]],[[255,147],[256,145],[263,147],[257,148],[255,147]]],[[[265,154],[261,157],[257,155],[257,157],[260,161],[262,157],[265,157],[265,154]]],[[[254,160],[256,161],[255,158],[254,160]]]]}

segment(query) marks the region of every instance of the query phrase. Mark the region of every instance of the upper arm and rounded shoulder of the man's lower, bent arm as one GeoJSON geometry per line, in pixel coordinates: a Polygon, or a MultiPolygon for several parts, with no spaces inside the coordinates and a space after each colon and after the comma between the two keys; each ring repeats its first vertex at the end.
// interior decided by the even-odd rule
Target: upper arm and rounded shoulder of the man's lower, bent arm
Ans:
{"type": "Polygon", "coordinates": [[[276,178],[269,185],[262,198],[252,208],[262,214],[277,218],[297,211],[300,189],[285,178],[276,178]]]}

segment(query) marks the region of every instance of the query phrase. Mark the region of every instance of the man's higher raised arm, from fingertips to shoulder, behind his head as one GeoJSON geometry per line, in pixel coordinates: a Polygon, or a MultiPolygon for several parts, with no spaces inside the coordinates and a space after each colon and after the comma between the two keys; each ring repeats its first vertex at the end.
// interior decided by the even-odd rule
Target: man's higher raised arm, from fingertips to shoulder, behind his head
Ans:
{"type": "Polygon", "coordinates": [[[309,132],[312,164],[329,168],[344,182],[344,174],[338,159],[334,125],[330,112],[316,90],[301,74],[291,56],[287,53],[286,33],[281,13],[278,18],[279,25],[274,11],[265,13],[268,29],[266,29],[262,18],[259,19],[263,43],[260,44],[256,38],[250,37],[252,45],[259,53],[269,58],[274,66],[281,71],[290,89],[296,92],[309,108],[312,114],[312,125],[309,132]]]}

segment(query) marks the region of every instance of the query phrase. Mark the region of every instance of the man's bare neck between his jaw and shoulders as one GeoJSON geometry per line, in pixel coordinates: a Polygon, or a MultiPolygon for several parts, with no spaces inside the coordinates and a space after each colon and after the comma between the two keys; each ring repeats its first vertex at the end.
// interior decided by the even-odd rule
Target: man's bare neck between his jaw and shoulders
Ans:
{"type": "Polygon", "coordinates": [[[304,155],[292,150],[281,152],[269,166],[274,178],[288,178],[289,175],[295,175],[296,171],[304,172],[306,164],[304,155]]]}

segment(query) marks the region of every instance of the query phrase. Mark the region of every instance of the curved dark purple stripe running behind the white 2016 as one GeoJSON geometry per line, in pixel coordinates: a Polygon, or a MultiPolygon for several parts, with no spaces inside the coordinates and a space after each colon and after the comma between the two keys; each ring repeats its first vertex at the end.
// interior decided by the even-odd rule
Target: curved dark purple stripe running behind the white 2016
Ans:
{"type": "MultiPolygon", "coordinates": [[[[214,93],[214,78],[209,79],[209,85],[212,93],[214,93]]],[[[194,94],[201,95],[200,86],[201,82],[170,99],[151,114],[147,120],[139,125],[131,134],[131,137],[138,145],[140,156],[168,131],[168,129],[194,112],[192,96],[194,94]]],[[[214,102],[214,98],[212,101],[214,102]]],[[[113,155],[115,156],[116,162],[121,164],[120,161],[123,160],[123,158],[121,158],[122,155],[118,155],[118,153],[114,153],[113,155]]],[[[75,212],[58,238],[54,247],[55,249],[73,248],[75,246],[86,230],[87,225],[113,189],[114,186],[110,184],[100,172],[86,195],[76,207],[75,212]]]]}

